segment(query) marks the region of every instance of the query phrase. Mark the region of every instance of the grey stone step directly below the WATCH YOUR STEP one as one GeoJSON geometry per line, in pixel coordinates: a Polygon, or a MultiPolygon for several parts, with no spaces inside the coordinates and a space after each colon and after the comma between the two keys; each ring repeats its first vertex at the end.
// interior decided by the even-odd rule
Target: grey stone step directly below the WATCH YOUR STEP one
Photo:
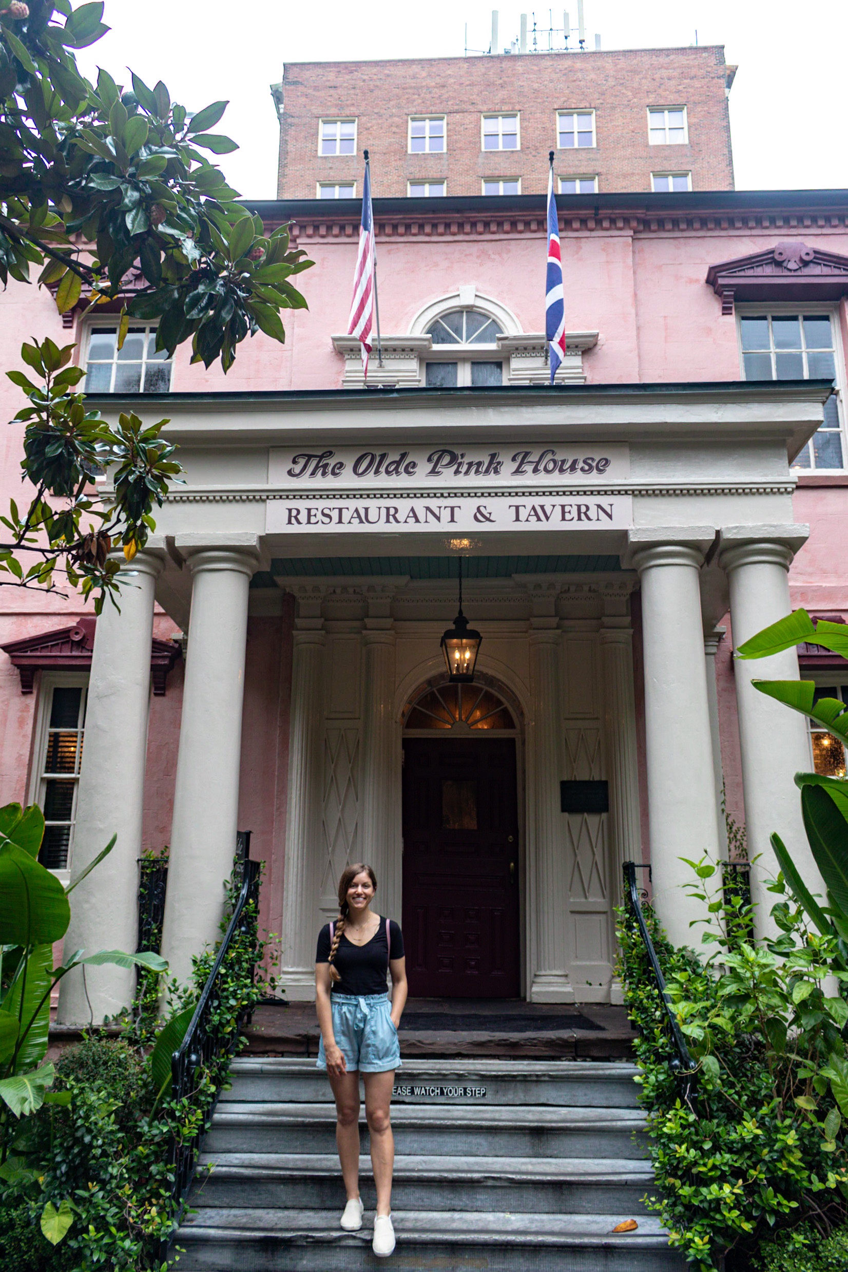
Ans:
{"type": "MultiPolygon", "coordinates": [[[[520,1158],[643,1158],[639,1109],[578,1105],[397,1104],[392,1110],[399,1154],[520,1158]]],[[[360,1126],[364,1151],[367,1128],[360,1126]]],[[[332,1104],[221,1100],[203,1144],[219,1152],[336,1150],[332,1104]]]]}

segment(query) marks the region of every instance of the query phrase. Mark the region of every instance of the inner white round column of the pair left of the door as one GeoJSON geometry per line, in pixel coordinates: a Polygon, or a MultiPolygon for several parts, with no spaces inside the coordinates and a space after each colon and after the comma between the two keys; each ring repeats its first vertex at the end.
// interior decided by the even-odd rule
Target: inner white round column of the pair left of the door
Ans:
{"type": "Polygon", "coordinates": [[[239,808],[248,589],[258,552],[181,546],[192,572],[186,683],[161,953],[191,976],[192,955],[219,939],[239,808]]]}

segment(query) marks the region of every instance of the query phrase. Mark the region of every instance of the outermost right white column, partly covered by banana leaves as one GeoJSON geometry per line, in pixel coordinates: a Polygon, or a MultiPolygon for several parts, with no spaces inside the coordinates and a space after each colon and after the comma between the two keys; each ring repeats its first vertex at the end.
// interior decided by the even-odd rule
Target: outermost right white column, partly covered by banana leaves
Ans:
{"type": "MultiPolygon", "coordinates": [[[[735,525],[722,530],[718,561],[730,584],[735,646],[790,613],[788,569],[807,534],[806,525],[735,525]]],[[[804,831],[801,792],[793,781],[796,772],[812,768],[812,759],[805,717],[751,683],[797,679],[796,650],[753,661],[736,659],[734,667],[751,899],[758,907],[756,930],[765,932],[772,930],[769,911],[777,899],[765,890],[767,880],[778,873],[769,842],[773,832],[786,843],[807,885],[824,895],[804,831]]]]}

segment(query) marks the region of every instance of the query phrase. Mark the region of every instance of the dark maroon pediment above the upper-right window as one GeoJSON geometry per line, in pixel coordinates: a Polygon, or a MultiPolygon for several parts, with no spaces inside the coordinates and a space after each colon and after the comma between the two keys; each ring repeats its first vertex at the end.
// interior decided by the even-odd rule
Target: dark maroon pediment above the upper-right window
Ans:
{"type": "Polygon", "coordinates": [[[736,300],[839,300],[848,295],[848,256],[786,240],[711,265],[706,281],[721,299],[722,314],[732,314],[736,300]]]}

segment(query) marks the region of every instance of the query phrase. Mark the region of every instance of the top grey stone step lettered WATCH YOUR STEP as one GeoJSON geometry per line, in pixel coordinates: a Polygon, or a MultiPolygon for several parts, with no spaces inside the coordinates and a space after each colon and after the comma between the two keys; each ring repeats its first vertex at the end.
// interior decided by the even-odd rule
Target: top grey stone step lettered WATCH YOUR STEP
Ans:
{"type": "MultiPolygon", "coordinates": [[[[551,1104],[636,1108],[636,1065],[615,1061],[404,1061],[395,1076],[397,1104],[551,1104]]],[[[236,1102],[319,1104],[329,1100],[327,1075],[313,1061],[242,1057],[233,1062],[236,1102]]]]}

